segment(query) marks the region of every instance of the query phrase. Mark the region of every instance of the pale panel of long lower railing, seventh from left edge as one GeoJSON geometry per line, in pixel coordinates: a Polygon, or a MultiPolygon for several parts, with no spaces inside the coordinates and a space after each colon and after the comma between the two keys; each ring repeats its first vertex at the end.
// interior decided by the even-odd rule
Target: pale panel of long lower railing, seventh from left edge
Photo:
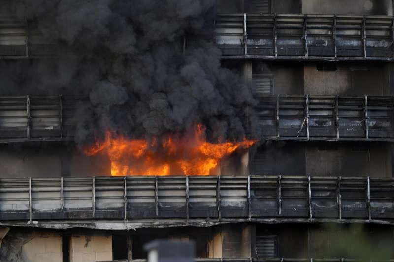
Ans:
{"type": "Polygon", "coordinates": [[[189,217],[218,217],[218,177],[189,177],[189,217]]]}

